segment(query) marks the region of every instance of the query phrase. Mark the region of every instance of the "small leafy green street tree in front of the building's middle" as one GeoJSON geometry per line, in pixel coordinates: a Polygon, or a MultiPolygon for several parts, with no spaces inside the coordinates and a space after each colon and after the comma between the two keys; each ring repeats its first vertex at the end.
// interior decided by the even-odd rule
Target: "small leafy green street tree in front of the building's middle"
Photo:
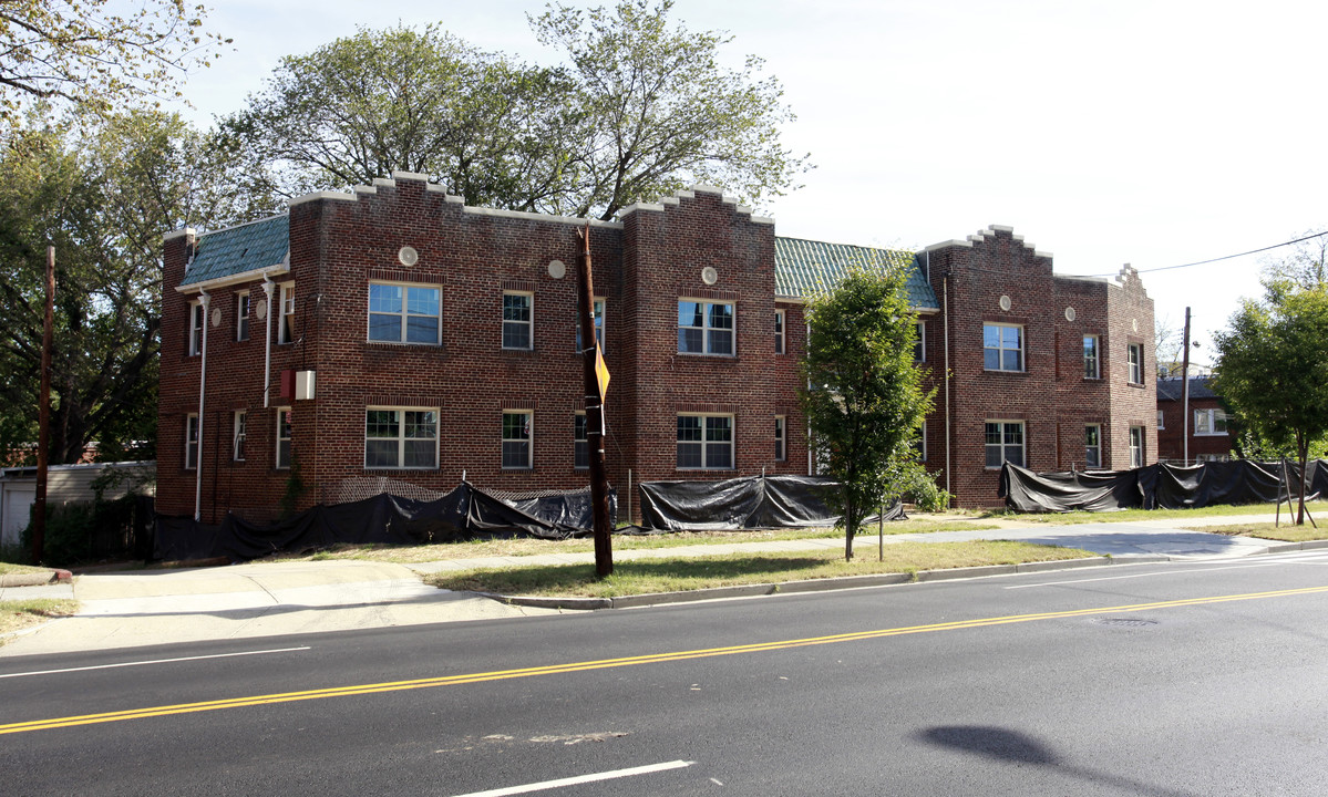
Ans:
{"type": "MultiPolygon", "coordinates": [[[[916,313],[899,268],[855,268],[807,304],[802,410],[845,529],[845,558],[863,519],[919,477],[916,442],[935,391],[912,359],[916,313]]],[[[926,477],[926,473],[922,473],[926,477]]]]}

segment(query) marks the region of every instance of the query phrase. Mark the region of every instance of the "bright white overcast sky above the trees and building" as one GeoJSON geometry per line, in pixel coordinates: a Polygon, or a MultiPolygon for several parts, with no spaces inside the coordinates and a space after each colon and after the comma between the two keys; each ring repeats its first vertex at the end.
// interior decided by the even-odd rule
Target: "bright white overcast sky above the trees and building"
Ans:
{"type": "MultiPolygon", "coordinates": [[[[590,5],[588,3],[572,3],[590,5]]],[[[551,62],[540,0],[224,0],[234,52],[191,76],[201,125],[278,60],[357,25],[437,23],[551,62]]],[[[1158,318],[1193,306],[1198,362],[1260,257],[1147,273],[1328,229],[1328,4],[1264,0],[677,0],[785,86],[805,187],[764,208],[778,235],[900,248],[1005,224],[1056,271],[1143,273],[1158,318]]],[[[1272,252],[1283,255],[1286,249],[1272,252]]]]}

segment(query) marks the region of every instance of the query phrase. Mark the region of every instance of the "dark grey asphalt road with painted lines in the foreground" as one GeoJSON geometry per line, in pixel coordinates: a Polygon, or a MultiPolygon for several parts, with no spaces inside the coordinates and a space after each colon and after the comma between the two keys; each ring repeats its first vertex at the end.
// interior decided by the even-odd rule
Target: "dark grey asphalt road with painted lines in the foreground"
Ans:
{"type": "Polygon", "coordinates": [[[1325,617],[1307,552],[17,656],[0,792],[1319,796],[1325,617]]]}

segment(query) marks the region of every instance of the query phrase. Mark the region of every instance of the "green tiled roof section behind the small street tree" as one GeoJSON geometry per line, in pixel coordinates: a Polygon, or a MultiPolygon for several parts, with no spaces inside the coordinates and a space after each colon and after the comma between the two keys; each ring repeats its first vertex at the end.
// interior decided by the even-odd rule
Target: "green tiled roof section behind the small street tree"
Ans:
{"type": "Polygon", "coordinates": [[[919,310],[940,309],[936,293],[912,252],[826,244],[797,237],[774,239],[774,294],[811,296],[834,286],[853,265],[908,269],[908,304],[919,310]]]}

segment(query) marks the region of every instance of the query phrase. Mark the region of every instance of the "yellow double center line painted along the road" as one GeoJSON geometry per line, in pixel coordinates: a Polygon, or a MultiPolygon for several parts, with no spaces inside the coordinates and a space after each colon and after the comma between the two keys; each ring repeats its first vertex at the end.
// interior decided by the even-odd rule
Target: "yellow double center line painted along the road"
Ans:
{"type": "Polygon", "coordinates": [[[1207,598],[1185,598],[1181,601],[1158,601],[1155,603],[1131,603],[1126,606],[1106,606],[1102,609],[1074,609],[1070,611],[1045,611],[1038,614],[1013,614],[1009,617],[987,617],[977,619],[964,619],[948,623],[931,623],[926,626],[903,626],[898,629],[880,629],[875,631],[855,631],[853,634],[834,634],[830,637],[807,637],[803,639],[782,639],[777,642],[761,642],[756,644],[734,644],[732,647],[709,647],[703,650],[680,650],[673,652],[649,654],[643,656],[627,656],[622,659],[599,659],[594,662],[570,662],[566,664],[548,664],[543,667],[523,667],[521,670],[497,670],[493,672],[470,672],[465,675],[445,675],[440,678],[418,678],[414,680],[394,680],[386,683],[367,683],[348,687],[333,687],[327,690],[308,690],[303,692],[279,692],[274,695],[254,695],[250,698],[230,698],[226,700],[206,700],[202,703],[178,703],[174,705],[151,705],[147,708],[131,708],[127,711],[110,711],[106,713],[88,713],[82,716],[54,717],[49,720],[31,720],[27,723],[11,723],[0,725],[0,733],[24,733],[28,731],[46,731],[53,728],[72,728],[76,725],[94,725],[98,723],[118,723],[124,720],[138,720],[154,716],[170,716],[177,713],[194,713],[199,711],[220,711],[223,708],[243,708],[246,705],[272,705],[276,703],[295,703],[296,700],[323,700],[325,698],[349,698],[352,695],[374,695],[380,692],[400,692],[405,690],[428,690],[434,687],[450,687],[466,683],[485,683],[490,680],[506,680],[511,678],[533,678],[537,675],[558,675],[562,672],[583,672],[587,670],[608,670],[612,667],[635,667],[637,664],[657,664],[661,662],[681,662],[687,659],[705,659],[710,656],[730,656],[737,654],[765,652],[774,650],[788,650],[793,647],[810,647],[813,644],[837,644],[841,642],[861,642],[865,639],[879,639],[883,637],[902,637],[904,634],[927,634],[932,631],[955,631],[960,629],[983,629],[987,626],[1003,626],[1009,623],[1027,623],[1040,619],[1061,619],[1068,617],[1093,617],[1098,614],[1117,614],[1122,611],[1149,611],[1154,609],[1177,609],[1181,606],[1204,606],[1208,603],[1228,603],[1232,601],[1255,601],[1260,598],[1283,598],[1289,595],[1309,595],[1328,591],[1328,586],[1311,586],[1301,589],[1275,590],[1267,593],[1244,593],[1236,595],[1212,595],[1207,598]]]}

